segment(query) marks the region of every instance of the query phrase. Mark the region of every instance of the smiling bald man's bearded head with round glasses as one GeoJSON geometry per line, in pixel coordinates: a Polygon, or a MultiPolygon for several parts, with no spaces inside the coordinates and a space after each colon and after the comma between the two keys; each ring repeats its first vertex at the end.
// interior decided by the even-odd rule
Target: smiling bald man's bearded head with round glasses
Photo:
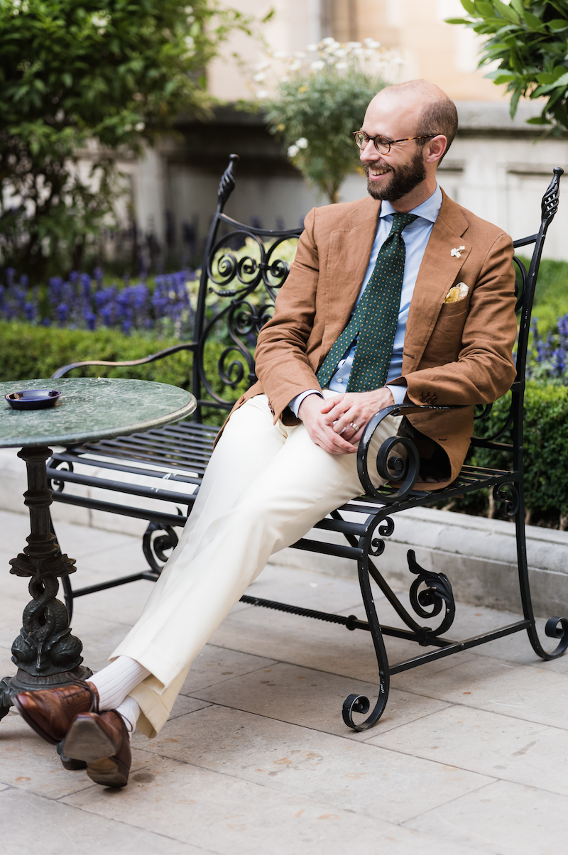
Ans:
{"type": "Polygon", "coordinates": [[[361,130],[367,137],[404,141],[389,150],[382,145],[382,151],[371,140],[363,145],[361,162],[370,195],[400,202],[394,207],[407,210],[429,198],[438,163],[457,129],[455,104],[439,86],[409,80],[382,89],[370,102],[361,130]]]}

